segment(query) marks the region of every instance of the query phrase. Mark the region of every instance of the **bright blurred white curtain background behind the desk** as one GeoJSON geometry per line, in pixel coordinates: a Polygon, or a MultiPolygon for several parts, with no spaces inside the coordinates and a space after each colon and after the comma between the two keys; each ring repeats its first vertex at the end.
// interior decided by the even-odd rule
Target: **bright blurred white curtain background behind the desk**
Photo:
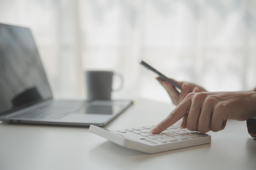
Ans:
{"type": "Polygon", "coordinates": [[[84,71],[110,70],[125,79],[114,98],[170,102],[139,59],[208,91],[256,87],[255,9],[255,0],[0,0],[0,22],[32,30],[56,98],[85,97],[84,71]]]}

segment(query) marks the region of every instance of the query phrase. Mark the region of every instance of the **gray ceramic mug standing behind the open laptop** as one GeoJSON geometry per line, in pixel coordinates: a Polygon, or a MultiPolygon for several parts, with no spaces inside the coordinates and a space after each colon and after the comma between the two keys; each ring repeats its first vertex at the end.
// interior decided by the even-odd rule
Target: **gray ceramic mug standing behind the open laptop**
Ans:
{"type": "Polygon", "coordinates": [[[87,84],[87,99],[110,100],[112,91],[119,91],[123,86],[123,77],[119,73],[112,71],[85,71],[85,81],[87,84]],[[113,77],[120,79],[118,88],[113,89],[113,77]]]}

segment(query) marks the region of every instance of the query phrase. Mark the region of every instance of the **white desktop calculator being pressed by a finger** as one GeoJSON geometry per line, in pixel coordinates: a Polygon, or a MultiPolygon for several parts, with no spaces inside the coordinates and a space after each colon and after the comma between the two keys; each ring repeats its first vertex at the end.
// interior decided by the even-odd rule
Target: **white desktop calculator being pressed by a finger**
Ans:
{"type": "Polygon", "coordinates": [[[90,125],[89,131],[120,146],[145,153],[157,153],[211,143],[211,136],[171,126],[160,134],[149,134],[154,126],[108,130],[90,125]]]}

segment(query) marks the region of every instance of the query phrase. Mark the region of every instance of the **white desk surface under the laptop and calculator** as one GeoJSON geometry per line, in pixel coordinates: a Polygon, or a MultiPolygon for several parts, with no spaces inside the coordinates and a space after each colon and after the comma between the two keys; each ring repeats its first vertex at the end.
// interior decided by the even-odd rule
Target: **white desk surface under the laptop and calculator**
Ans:
{"type": "MultiPolygon", "coordinates": [[[[156,124],[174,108],[144,99],[106,126],[156,124]]],[[[208,132],[211,144],[144,154],[98,137],[88,128],[0,124],[0,170],[255,170],[256,140],[246,122],[208,132]]]]}

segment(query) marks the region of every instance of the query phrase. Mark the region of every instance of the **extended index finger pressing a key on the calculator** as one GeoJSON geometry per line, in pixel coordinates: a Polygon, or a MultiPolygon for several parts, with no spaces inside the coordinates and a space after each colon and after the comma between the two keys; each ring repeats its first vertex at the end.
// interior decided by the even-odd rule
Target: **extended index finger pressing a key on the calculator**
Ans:
{"type": "Polygon", "coordinates": [[[191,106],[191,99],[186,98],[164,120],[157,124],[150,133],[158,134],[184,117],[191,106]]]}

